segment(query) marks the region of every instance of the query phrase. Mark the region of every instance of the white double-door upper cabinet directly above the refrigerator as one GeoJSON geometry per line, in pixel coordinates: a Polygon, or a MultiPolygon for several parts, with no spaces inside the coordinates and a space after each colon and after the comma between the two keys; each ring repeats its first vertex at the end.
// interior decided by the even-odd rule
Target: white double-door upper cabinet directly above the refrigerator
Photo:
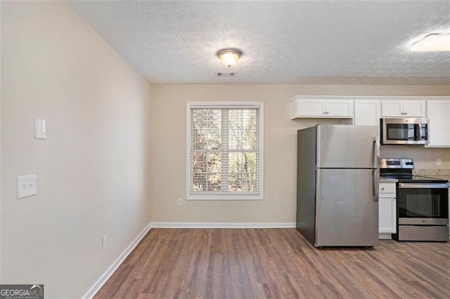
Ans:
{"type": "Polygon", "coordinates": [[[290,104],[290,119],[298,117],[353,117],[353,100],[332,97],[295,96],[290,104]]]}

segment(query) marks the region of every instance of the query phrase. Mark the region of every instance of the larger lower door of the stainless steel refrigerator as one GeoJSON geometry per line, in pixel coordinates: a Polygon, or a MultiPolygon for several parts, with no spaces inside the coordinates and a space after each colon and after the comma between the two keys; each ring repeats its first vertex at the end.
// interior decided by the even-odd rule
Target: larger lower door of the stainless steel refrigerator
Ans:
{"type": "Polygon", "coordinates": [[[378,169],[318,169],[316,246],[378,244],[378,169]]]}

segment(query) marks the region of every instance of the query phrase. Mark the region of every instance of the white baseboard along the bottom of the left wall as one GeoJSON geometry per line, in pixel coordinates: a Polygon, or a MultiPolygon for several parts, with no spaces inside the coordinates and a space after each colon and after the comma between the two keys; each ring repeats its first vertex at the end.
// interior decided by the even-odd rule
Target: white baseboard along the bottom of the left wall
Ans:
{"type": "Polygon", "coordinates": [[[147,234],[150,228],[151,226],[149,223],[148,225],[146,225],[146,227],[143,228],[142,232],[140,232],[138,236],[134,238],[131,244],[129,244],[129,246],[125,248],[125,250],[117,258],[117,260],[115,260],[114,263],[110,265],[110,267],[108,267],[108,269],[101,275],[101,277],[99,277],[97,281],[94,282],[94,284],[89,288],[89,290],[86,293],[84,293],[84,295],[82,295],[82,298],[93,298],[94,295],[96,295],[96,293],[100,291],[103,284],[105,284],[106,281],[108,281],[108,279],[111,277],[111,275],[114,274],[115,270],[117,270],[117,268],[123,263],[125,258],[127,258],[129,253],[133,251],[136,245],[139,244],[139,241],[141,241],[141,239],[147,234]]]}

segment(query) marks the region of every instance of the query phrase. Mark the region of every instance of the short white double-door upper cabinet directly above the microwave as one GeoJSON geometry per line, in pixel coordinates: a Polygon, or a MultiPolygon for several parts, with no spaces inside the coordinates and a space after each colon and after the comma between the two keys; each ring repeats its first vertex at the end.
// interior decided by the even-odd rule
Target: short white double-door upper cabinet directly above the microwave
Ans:
{"type": "Polygon", "coordinates": [[[425,117],[425,100],[383,100],[382,117],[425,117]]]}

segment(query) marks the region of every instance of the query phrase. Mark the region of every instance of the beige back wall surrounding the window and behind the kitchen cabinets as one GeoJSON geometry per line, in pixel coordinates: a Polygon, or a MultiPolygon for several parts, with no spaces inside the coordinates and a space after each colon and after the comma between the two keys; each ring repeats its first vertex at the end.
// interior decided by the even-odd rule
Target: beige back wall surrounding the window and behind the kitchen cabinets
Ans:
{"type": "MultiPolygon", "coordinates": [[[[293,95],[450,95],[449,86],[153,85],[151,138],[152,222],[295,222],[296,131],[330,120],[290,120],[293,95]],[[186,198],[186,102],[264,102],[264,200],[184,201],[186,198]]],[[[435,157],[450,168],[450,149],[397,147],[382,153],[409,155],[418,166],[435,157]],[[423,154],[425,153],[425,154],[423,154]]]]}

